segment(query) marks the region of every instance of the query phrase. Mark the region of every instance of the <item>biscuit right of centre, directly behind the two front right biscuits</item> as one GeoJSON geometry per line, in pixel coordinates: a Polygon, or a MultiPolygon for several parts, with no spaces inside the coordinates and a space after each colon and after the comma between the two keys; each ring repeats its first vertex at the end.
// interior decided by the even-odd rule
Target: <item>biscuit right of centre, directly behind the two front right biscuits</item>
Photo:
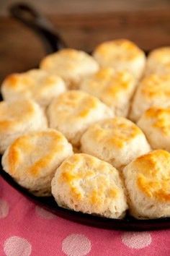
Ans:
{"type": "Polygon", "coordinates": [[[150,151],[145,135],[124,117],[91,125],[81,137],[81,151],[122,170],[130,161],[150,151]]]}

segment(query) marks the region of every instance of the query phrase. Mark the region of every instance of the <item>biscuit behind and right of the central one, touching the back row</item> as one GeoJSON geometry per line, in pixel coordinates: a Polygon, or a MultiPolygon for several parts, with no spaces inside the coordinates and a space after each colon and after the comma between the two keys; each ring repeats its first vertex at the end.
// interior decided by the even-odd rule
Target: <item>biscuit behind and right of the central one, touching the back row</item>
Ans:
{"type": "Polygon", "coordinates": [[[79,87],[109,106],[115,116],[127,116],[135,84],[133,74],[125,70],[115,72],[107,67],[85,78],[79,87]]]}

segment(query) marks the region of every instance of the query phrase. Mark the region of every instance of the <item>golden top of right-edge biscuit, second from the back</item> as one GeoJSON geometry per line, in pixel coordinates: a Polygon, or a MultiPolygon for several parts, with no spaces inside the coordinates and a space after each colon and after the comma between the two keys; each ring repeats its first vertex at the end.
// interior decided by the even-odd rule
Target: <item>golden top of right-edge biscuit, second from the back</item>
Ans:
{"type": "Polygon", "coordinates": [[[140,82],[146,98],[170,98],[170,74],[150,74],[140,82]]]}

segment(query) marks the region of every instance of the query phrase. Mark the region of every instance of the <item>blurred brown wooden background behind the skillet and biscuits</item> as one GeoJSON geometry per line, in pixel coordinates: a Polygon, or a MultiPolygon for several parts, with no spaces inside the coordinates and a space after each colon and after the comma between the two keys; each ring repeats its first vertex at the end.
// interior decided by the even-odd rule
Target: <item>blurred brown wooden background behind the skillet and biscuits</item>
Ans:
{"type": "MultiPolygon", "coordinates": [[[[9,17],[18,1],[0,0],[0,82],[7,74],[37,67],[45,50],[40,38],[9,17]]],[[[22,1],[42,12],[69,47],[92,51],[104,40],[129,38],[151,50],[170,45],[170,0],[22,1]]]]}

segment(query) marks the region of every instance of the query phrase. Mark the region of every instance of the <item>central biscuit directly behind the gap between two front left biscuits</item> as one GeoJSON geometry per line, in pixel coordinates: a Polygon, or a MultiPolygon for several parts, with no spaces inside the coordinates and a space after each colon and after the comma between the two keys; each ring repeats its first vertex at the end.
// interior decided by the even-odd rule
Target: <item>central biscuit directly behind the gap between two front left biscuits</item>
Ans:
{"type": "Polygon", "coordinates": [[[76,148],[90,124],[113,116],[111,109],[98,98],[81,90],[70,90],[55,98],[47,114],[50,127],[63,132],[76,148]]]}

